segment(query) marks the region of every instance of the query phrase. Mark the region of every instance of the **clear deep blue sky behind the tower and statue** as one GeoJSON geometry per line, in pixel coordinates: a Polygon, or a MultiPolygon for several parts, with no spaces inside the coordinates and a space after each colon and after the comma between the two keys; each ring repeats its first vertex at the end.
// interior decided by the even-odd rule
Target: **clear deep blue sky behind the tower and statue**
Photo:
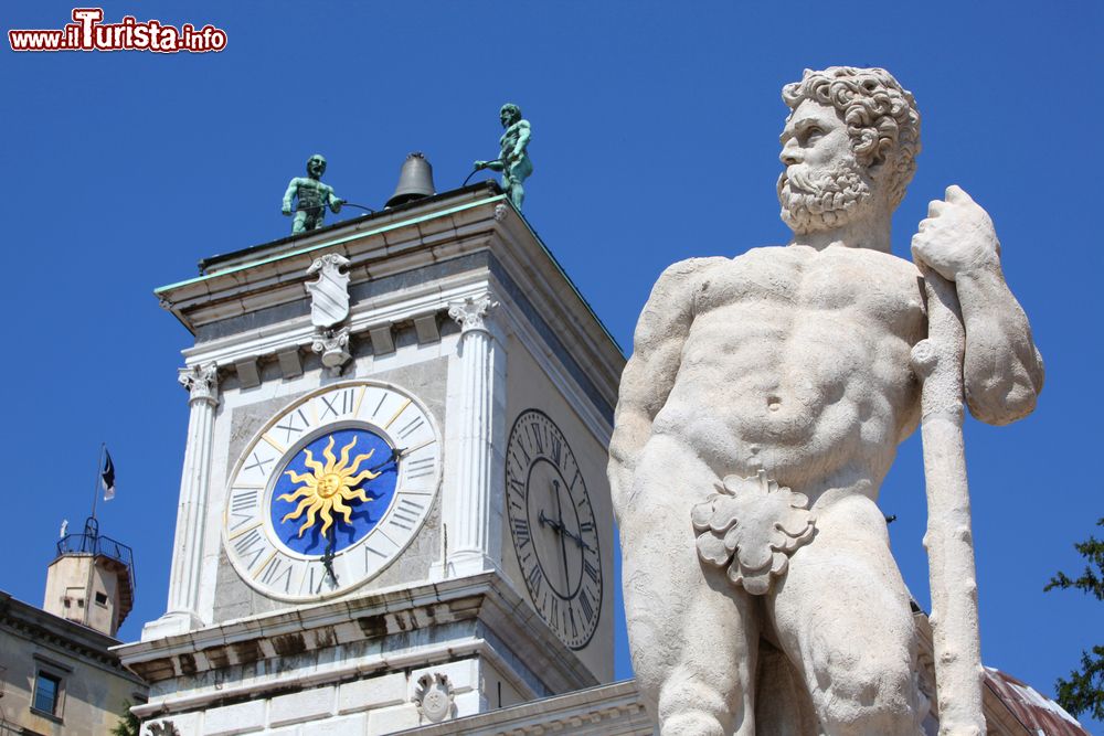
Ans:
{"type": "MultiPolygon", "coordinates": [[[[61,28],[71,8],[8,3],[4,30],[61,28]]],[[[123,638],[163,611],[189,335],[151,290],[204,256],[286,234],[279,200],[310,153],[327,156],[326,181],[353,202],[381,204],[412,150],[445,190],[493,158],[498,107],[520,104],[537,167],[526,214],[628,349],[668,264],[786,239],[774,193],[782,85],[806,66],[878,65],[924,116],[895,252],[907,255],[928,200],[963,185],[996,222],[1047,361],[1034,415],[966,428],[985,660],[1050,694],[1102,643],[1104,606],[1042,593],[1055,569],[1080,569],[1072,544],[1104,515],[1102,243],[1089,227],[1101,206],[1089,178],[1102,167],[1098,3],[147,1],[105,13],[213,23],[229,45],[0,50],[0,588],[41,601],[59,525],[87,514],[106,440],[118,497],[102,506],[103,530],[138,561],[123,638]]],[[[923,497],[917,436],[882,506],[926,607],[923,497]]],[[[624,638],[618,673],[629,673],[624,638]]]]}

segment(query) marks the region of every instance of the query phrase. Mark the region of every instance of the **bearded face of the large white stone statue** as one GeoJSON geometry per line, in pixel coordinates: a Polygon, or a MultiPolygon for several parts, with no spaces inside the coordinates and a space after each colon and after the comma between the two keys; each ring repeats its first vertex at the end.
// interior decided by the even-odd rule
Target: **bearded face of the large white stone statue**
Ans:
{"type": "Polygon", "coordinates": [[[798,234],[839,227],[862,216],[871,200],[870,172],[854,158],[836,108],[806,99],[782,131],[778,178],[782,218],[798,234]]]}

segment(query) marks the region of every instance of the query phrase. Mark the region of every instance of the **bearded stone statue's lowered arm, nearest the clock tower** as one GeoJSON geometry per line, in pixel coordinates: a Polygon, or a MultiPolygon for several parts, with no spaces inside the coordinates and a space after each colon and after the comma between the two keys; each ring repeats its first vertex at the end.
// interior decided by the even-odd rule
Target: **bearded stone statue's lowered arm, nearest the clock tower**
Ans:
{"type": "Polygon", "coordinates": [[[656,281],[633,335],[633,356],[622,373],[614,433],[609,439],[609,490],[614,508],[631,490],[651,424],[675,386],[701,270],[713,259],[691,258],[670,266],[656,281]]]}

